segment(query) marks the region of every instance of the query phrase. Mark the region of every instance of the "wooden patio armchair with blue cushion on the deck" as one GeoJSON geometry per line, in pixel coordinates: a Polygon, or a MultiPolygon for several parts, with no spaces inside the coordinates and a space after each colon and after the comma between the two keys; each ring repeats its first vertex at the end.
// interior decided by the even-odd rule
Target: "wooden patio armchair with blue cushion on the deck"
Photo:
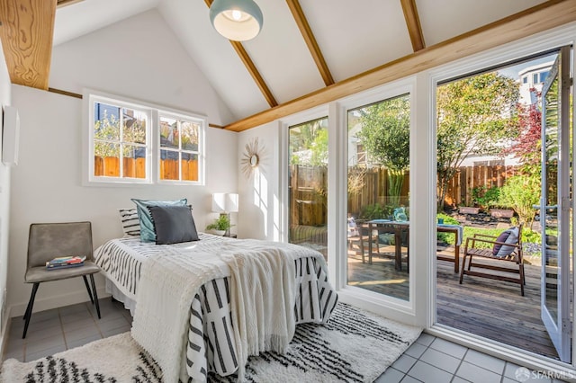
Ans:
{"type": "Polygon", "coordinates": [[[473,237],[466,238],[464,260],[460,271],[460,284],[462,284],[464,274],[518,283],[520,285],[520,293],[524,297],[526,278],[522,255],[522,225],[504,230],[498,237],[475,234],[473,237]],[[481,244],[484,245],[479,246],[481,244]],[[491,247],[486,248],[486,245],[491,247]],[[474,262],[474,257],[481,258],[484,262],[474,262]],[[467,265],[466,260],[468,260],[467,265]],[[490,272],[478,272],[473,270],[473,268],[490,272]],[[510,273],[515,276],[507,275],[510,273]]]}

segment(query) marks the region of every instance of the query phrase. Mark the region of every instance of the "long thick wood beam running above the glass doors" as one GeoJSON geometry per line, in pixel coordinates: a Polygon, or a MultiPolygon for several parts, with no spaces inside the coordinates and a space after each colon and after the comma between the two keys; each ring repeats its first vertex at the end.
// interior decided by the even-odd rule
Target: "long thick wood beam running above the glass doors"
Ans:
{"type": "Polygon", "coordinates": [[[383,66],[375,67],[335,85],[238,120],[227,125],[226,129],[242,131],[255,128],[293,113],[333,102],[374,86],[387,84],[399,78],[455,61],[458,58],[465,58],[483,50],[495,48],[574,21],[576,21],[576,1],[549,0],[432,47],[420,49],[418,52],[398,58],[383,66]]]}

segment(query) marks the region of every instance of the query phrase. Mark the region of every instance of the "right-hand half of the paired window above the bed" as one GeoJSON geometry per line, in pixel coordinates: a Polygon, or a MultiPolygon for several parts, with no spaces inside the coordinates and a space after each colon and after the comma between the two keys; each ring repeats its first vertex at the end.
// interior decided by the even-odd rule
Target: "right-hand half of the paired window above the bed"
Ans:
{"type": "Polygon", "coordinates": [[[160,180],[198,181],[202,121],[160,116],[160,180]]]}

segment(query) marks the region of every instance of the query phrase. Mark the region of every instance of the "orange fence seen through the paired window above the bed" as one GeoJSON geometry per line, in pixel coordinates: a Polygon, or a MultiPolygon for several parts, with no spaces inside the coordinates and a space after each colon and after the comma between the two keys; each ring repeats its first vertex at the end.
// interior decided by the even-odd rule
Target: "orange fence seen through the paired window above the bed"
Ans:
{"type": "MultiPolygon", "coordinates": [[[[123,177],[145,178],[145,158],[123,158],[123,177]]],[[[182,160],[182,180],[198,181],[198,160],[182,160]]],[[[94,156],[94,175],[107,177],[120,177],[120,158],[94,156]]],[[[160,160],[160,179],[179,180],[178,160],[160,160]]]]}

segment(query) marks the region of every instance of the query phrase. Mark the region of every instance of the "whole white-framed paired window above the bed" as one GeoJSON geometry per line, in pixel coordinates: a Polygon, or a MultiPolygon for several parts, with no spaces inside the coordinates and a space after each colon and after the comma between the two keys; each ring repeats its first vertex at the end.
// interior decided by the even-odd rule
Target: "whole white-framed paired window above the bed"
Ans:
{"type": "Polygon", "coordinates": [[[202,184],[206,120],[88,94],[88,183],[202,184]]]}

